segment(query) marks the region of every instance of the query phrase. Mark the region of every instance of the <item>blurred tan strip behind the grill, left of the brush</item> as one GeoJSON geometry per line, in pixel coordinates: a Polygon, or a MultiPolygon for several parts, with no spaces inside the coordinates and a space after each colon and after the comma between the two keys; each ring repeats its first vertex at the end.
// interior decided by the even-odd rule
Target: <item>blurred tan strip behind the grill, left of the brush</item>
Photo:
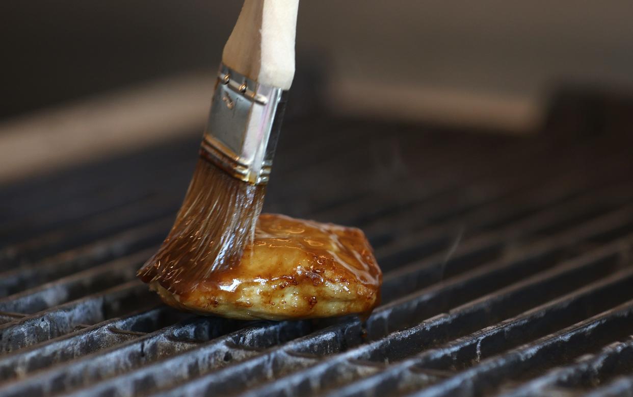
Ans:
{"type": "Polygon", "coordinates": [[[183,75],[0,123],[0,183],[202,134],[213,75],[183,75]]]}

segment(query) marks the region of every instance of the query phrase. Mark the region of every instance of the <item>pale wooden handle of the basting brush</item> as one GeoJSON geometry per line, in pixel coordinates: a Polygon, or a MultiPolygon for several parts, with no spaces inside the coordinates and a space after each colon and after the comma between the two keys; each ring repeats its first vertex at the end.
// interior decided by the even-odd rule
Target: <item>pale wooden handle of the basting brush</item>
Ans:
{"type": "Polygon", "coordinates": [[[245,0],[222,62],[260,84],[289,89],[299,0],[245,0]]]}

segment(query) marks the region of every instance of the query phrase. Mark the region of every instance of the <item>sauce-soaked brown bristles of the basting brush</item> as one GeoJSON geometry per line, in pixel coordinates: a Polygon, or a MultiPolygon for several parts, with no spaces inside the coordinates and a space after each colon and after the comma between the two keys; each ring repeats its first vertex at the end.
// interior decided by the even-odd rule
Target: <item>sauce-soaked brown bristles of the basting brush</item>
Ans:
{"type": "Polygon", "coordinates": [[[237,264],[253,242],[264,195],[264,185],[233,178],[199,159],[172,230],[138,276],[170,292],[187,292],[237,264]]]}

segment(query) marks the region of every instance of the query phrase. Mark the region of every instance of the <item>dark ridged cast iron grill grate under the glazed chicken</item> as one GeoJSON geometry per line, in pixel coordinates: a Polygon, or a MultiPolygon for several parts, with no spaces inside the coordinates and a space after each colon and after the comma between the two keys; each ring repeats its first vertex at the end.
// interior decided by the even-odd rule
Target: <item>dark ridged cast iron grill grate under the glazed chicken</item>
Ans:
{"type": "Polygon", "coordinates": [[[630,395],[630,139],[285,126],[266,209],[365,230],[365,323],[179,313],[134,273],[197,140],[0,193],[3,396],[630,395]]]}

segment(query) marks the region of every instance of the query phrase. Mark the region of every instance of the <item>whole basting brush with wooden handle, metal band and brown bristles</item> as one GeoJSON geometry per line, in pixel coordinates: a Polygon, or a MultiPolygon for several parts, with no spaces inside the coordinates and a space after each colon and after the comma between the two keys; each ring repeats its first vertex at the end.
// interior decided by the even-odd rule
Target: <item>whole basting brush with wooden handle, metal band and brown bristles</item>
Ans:
{"type": "MultiPolygon", "coordinates": [[[[287,90],[299,0],[245,0],[225,44],[200,157],[165,242],[139,270],[184,292],[253,241],[287,90]]],[[[147,280],[149,278],[149,280],[147,280]]]]}

